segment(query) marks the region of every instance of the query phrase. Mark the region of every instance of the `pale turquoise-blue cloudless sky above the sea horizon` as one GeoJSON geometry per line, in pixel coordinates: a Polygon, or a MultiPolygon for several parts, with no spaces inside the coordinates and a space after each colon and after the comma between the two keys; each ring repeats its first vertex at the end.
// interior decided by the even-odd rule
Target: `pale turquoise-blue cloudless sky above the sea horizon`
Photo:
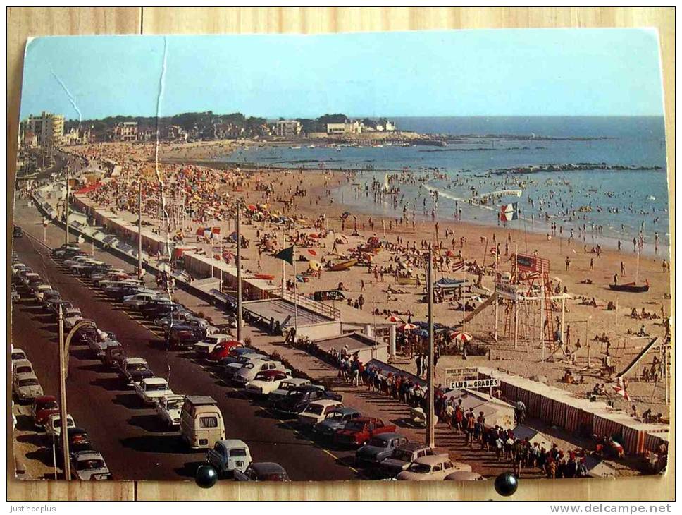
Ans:
{"type": "MultiPolygon", "coordinates": [[[[169,36],[167,44],[161,116],[663,114],[650,30],[169,36]]],[[[163,48],[163,36],[32,40],[21,117],[153,116],[163,48]]]]}

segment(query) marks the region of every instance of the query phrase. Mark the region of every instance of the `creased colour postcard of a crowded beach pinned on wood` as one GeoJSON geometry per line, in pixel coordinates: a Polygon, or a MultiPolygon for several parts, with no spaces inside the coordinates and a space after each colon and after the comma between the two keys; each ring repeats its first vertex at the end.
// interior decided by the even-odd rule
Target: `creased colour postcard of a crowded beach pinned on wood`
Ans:
{"type": "Polygon", "coordinates": [[[655,30],[39,37],[19,478],[664,473],[655,30]]]}

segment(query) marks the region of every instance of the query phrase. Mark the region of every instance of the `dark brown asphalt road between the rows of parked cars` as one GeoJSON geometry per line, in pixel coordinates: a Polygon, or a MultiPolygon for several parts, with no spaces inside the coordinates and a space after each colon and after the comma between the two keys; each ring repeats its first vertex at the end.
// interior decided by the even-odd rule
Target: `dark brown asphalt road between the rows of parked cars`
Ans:
{"type": "MultiPolygon", "coordinates": [[[[112,330],[125,345],[129,356],[147,359],[156,375],[167,377],[175,392],[213,396],[225,417],[227,437],[249,444],[255,461],[282,464],[292,480],[348,480],[358,476],[350,462],[352,452],[322,449],[292,427],[271,416],[246,399],[239,390],[225,385],[219,377],[186,353],[167,353],[159,348],[159,337],[120,305],[89,288],[84,281],[62,272],[49,257],[42,241],[40,217],[23,205],[17,208],[17,223],[28,233],[18,238],[14,250],[63,298],[81,308],[103,329],[112,330]],[[39,237],[31,238],[30,235],[39,237]]],[[[49,227],[51,246],[58,246],[63,231],[49,227]]],[[[104,253],[103,253],[104,255],[104,253]]],[[[122,262],[106,255],[111,262],[122,262]]],[[[116,263],[115,263],[116,264],[116,263]]],[[[130,265],[125,265],[130,268],[130,265]]],[[[56,324],[39,305],[22,300],[14,305],[13,344],[26,351],[34,363],[46,394],[58,392],[58,351],[56,324]]],[[[117,479],[190,479],[204,460],[203,452],[192,452],[178,432],[161,427],[154,411],[144,408],[135,394],[125,389],[116,374],[93,360],[87,348],[74,347],[68,378],[68,411],[76,424],[86,428],[101,450],[117,479]]],[[[49,462],[49,454],[36,453],[29,459],[49,462]]]]}

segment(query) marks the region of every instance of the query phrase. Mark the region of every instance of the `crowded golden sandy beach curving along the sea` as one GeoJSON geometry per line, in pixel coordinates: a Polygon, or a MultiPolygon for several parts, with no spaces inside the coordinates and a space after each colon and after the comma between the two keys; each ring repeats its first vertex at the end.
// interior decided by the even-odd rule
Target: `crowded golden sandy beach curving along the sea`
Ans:
{"type": "MultiPolygon", "coordinates": [[[[251,142],[253,144],[253,142],[251,142]]],[[[519,344],[514,349],[512,335],[505,331],[504,309],[500,309],[500,321],[498,324],[498,341],[492,338],[493,313],[492,306],[483,310],[480,314],[464,325],[464,330],[473,336],[473,345],[481,345],[486,349],[484,356],[469,355],[466,361],[462,360],[461,353],[447,354],[443,349],[442,356],[436,368],[437,382],[445,380],[444,370],[447,367],[457,365],[476,366],[476,363],[506,370],[524,377],[543,377],[548,384],[560,387],[578,396],[587,396],[593,391],[597,383],[603,383],[607,387],[609,396],[614,400],[616,407],[631,411],[635,405],[639,414],[650,409],[653,414],[662,413],[668,416],[669,408],[665,403],[665,388],[663,382],[645,381],[644,369],[652,369],[655,365],[654,354],[649,353],[642,363],[637,365],[633,372],[627,376],[627,391],[631,401],[626,401],[621,396],[613,395],[612,386],[615,383],[613,371],[620,372],[640,352],[643,345],[649,341],[647,338],[635,337],[644,326],[646,334],[651,337],[664,339],[664,317],[671,311],[670,301],[670,274],[669,269],[664,267],[663,260],[669,262],[669,257],[640,255],[633,252],[632,244],[625,244],[619,251],[603,246],[600,253],[590,252],[591,248],[599,242],[593,242],[589,237],[569,238],[547,236],[526,232],[514,227],[513,223],[508,228],[500,226],[482,226],[455,222],[451,220],[409,219],[404,223],[399,222],[400,214],[391,218],[380,218],[371,214],[356,210],[350,213],[345,220],[342,214],[347,207],[340,202],[330,200],[330,192],[342,184],[352,181],[352,174],[345,171],[331,170],[295,170],[295,169],[255,169],[224,170],[224,165],[198,166],[197,164],[178,164],[178,162],[202,162],[210,164],[211,159],[224,154],[230,145],[239,145],[237,142],[211,142],[204,144],[187,145],[162,145],[159,157],[164,160],[172,160],[175,164],[159,166],[164,177],[177,179],[178,174],[192,174],[202,177],[198,183],[199,188],[194,192],[197,198],[204,195],[202,206],[213,206],[215,210],[199,210],[194,219],[173,219],[171,232],[178,236],[178,231],[184,243],[197,244],[211,252],[216,243],[202,243],[197,241],[195,235],[199,226],[221,226],[221,234],[229,235],[234,229],[230,221],[230,209],[235,198],[243,199],[247,205],[253,205],[256,210],[269,213],[281,213],[296,219],[296,224],[285,231],[285,246],[290,246],[292,241],[297,242],[295,255],[302,260],[316,260],[325,262],[328,260],[340,260],[344,257],[352,257],[352,250],[363,245],[368,238],[376,236],[385,242],[383,250],[373,255],[371,267],[354,266],[343,272],[332,272],[323,268],[319,274],[305,274],[305,281],[297,283],[299,293],[312,294],[314,291],[337,289],[342,283],[345,296],[349,302],[335,302],[335,306],[342,310],[344,322],[358,322],[366,324],[386,323],[386,313],[398,313],[402,320],[426,320],[426,303],[422,302],[424,295],[424,275],[419,272],[419,267],[414,267],[414,274],[421,274],[420,285],[397,284],[393,270],[397,268],[399,259],[417,251],[423,250],[423,245],[430,243],[434,249],[438,249],[438,256],[448,256],[447,261],[435,267],[435,278],[447,277],[451,279],[468,279],[469,284],[478,280],[477,274],[465,272],[469,265],[476,262],[477,266],[485,267],[486,273],[481,277],[482,289],[489,291],[495,288],[495,256],[491,250],[497,244],[500,245],[500,255],[497,258],[497,272],[510,272],[512,268],[512,255],[518,248],[519,254],[533,255],[550,260],[550,277],[552,286],[559,285],[559,291],[568,293],[566,301],[565,328],[570,326],[570,334],[562,335],[566,342],[566,348],[573,353],[574,358],[564,358],[558,351],[549,359],[543,360],[543,355],[548,358],[552,351],[556,350],[552,344],[545,342],[545,349],[540,344],[540,319],[538,313],[528,315],[526,329],[523,337],[519,338],[519,344]],[[185,231],[182,231],[182,226],[185,231]],[[445,236],[447,234],[447,236],[445,236]],[[314,237],[311,237],[314,235],[314,237]],[[323,236],[323,237],[318,237],[323,236]],[[337,243],[334,243],[337,241],[337,243]],[[387,245],[387,244],[388,245],[387,245]],[[387,250],[387,246],[393,250],[387,250]],[[408,250],[409,249],[409,250],[408,250]],[[464,269],[452,270],[459,261],[459,255],[466,262],[464,269]],[[566,259],[569,266],[566,266],[566,259]],[[621,268],[622,267],[622,268],[621,268]],[[608,284],[614,280],[614,274],[619,275],[620,283],[635,281],[636,268],[639,267],[638,283],[647,281],[650,289],[646,293],[616,293],[609,290],[608,284]],[[384,272],[383,274],[380,272],[384,272]],[[623,273],[625,272],[625,273],[623,273]],[[392,293],[388,292],[389,289],[392,293]],[[362,309],[355,308],[354,301],[360,296],[364,299],[362,309]],[[596,303],[590,305],[592,302],[596,303]],[[617,310],[608,310],[607,305],[612,302],[617,305],[617,310]],[[631,316],[636,310],[637,317],[631,316]],[[641,314],[645,311],[645,319],[641,314]],[[610,345],[595,341],[595,335],[606,336],[610,345]],[[579,339],[579,346],[578,344],[579,339]],[[605,356],[609,353],[612,372],[607,373],[602,365],[605,356]],[[589,360],[588,360],[589,355],[589,360]],[[574,382],[565,382],[566,371],[570,370],[574,382]]],[[[132,181],[133,170],[139,166],[139,162],[147,162],[144,166],[154,168],[154,145],[128,145],[124,143],[94,145],[92,147],[77,148],[75,152],[83,154],[90,159],[105,155],[110,159],[120,162],[123,172],[119,181],[132,181]],[[152,159],[149,164],[149,159],[152,159]],[[135,164],[137,162],[137,165],[135,164]]],[[[229,168],[229,167],[228,167],[229,168]]],[[[151,169],[149,172],[151,174],[151,169]]],[[[158,184],[158,183],[157,183],[158,184]]],[[[178,184],[180,184],[178,182],[178,184]]],[[[149,176],[149,188],[154,188],[154,176],[149,176]]],[[[123,188],[122,190],[125,190],[123,188]]],[[[130,190],[130,188],[128,188],[130,190]]],[[[154,202],[154,192],[145,192],[149,195],[149,202],[154,202]]],[[[371,198],[368,199],[371,201],[371,198]]],[[[101,199],[102,205],[111,203],[111,199],[101,199]]],[[[158,209],[155,211],[151,204],[148,206],[147,220],[158,224],[158,209]]],[[[283,231],[280,226],[275,226],[267,219],[255,222],[247,219],[243,227],[243,234],[249,240],[249,246],[242,253],[244,268],[260,274],[271,274],[275,284],[281,281],[282,261],[275,259],[273,253],[282,247],[283,231]],[[271,251],[265,250],[264,245],[269,241],[271,251]]],[[[234,245],[225,236],[225,249],[234,245]]],[[[603,243],[602,243],[603,245],[603,243]]],[[[309,264],[297,262],[297,272],[306,272],[309,264]]],[[[290,279],[292,268],[286,267],[287,279],[290,279]]],[[[476,289],[476,292],[481,289],[476,289]]],[[[478,293],[471,293],[461,301],[480,303],[478,293]]],[[[435,322],[448,326],[461,324],[464,316],[462,310],[455,309],[454,302],[449,296],[445,301],[435,305],[435,322]]],[[[554,317],[560,313],[554,312],[554,317]]],[[[554,329],[557,329],[556,318],[552,320],[554,329]]],[[[661,354],[656,353],[657,359],[661,354]]],[[[411,356],[402,356],[399,366],[414,372],[415,364],[411,356]]],[[[544,380],[543,380],[544,381],[544,380]]]]}

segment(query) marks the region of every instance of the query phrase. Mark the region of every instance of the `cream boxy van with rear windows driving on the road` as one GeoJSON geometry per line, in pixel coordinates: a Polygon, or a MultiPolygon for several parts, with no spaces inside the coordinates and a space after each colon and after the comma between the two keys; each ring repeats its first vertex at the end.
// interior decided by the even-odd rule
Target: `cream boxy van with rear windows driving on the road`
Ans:
{"type": "Polygon", "coordinates": [[[205,395],[188,395],[180,412],[180,435],[192,449],[211,449],[225,439],[223,413],[218,401],[205,395]]]}

